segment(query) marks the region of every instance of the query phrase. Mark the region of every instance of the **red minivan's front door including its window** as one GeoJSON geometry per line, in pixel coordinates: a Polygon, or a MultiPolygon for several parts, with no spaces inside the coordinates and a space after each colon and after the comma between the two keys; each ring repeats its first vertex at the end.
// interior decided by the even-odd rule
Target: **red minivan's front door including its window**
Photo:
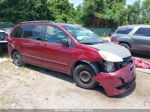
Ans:
{"type": "Polygon", "coordinates": [[[63,46],[62,39],[69,39],[62,29],[56,26],[47,26],[42,63],[46,68],[67,73],[70,65],[71,46],[63,46]]]}

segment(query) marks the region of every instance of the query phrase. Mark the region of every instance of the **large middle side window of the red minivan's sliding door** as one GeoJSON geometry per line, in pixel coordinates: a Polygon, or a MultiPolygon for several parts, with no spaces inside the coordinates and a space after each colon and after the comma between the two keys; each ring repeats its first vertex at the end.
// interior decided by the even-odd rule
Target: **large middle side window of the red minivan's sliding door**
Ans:
{"type": "Polygon", "coordinates": [[[44,40],[46,25],[24,25],[22,28],[23,38],[44,40]]]}

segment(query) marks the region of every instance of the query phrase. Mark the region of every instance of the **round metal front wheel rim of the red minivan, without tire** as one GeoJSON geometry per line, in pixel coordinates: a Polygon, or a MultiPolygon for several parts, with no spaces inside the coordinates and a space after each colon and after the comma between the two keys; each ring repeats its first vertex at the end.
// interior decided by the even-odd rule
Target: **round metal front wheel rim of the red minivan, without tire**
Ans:
{"type": "Polygon", "coordinates": [[[92,76],[88,71],[80,72],[79,78],[83,83],[89,83],[92,80],[92,76]]]}

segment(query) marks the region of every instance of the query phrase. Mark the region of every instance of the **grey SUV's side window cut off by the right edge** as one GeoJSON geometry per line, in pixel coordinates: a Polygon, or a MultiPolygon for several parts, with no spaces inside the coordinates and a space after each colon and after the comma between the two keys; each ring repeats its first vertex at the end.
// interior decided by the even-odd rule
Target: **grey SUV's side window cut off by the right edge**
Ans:
{"type": "Polygon", "coordinates": [[[150,37],[150,28],[139,28],[134,35],[150,37]]]}

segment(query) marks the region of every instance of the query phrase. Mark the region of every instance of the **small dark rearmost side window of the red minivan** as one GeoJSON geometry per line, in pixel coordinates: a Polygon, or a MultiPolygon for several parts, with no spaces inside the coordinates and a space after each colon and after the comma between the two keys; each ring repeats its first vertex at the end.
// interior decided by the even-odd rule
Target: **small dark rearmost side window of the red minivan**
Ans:
{"type": "Polygon", "coordinates": [[[20,26],[19,26],[19,27],[16,27],[16,28],[12,31],[11,37],[21,38],[22,32],[23,32],[23,29],[22,29],[20,26]]]}

